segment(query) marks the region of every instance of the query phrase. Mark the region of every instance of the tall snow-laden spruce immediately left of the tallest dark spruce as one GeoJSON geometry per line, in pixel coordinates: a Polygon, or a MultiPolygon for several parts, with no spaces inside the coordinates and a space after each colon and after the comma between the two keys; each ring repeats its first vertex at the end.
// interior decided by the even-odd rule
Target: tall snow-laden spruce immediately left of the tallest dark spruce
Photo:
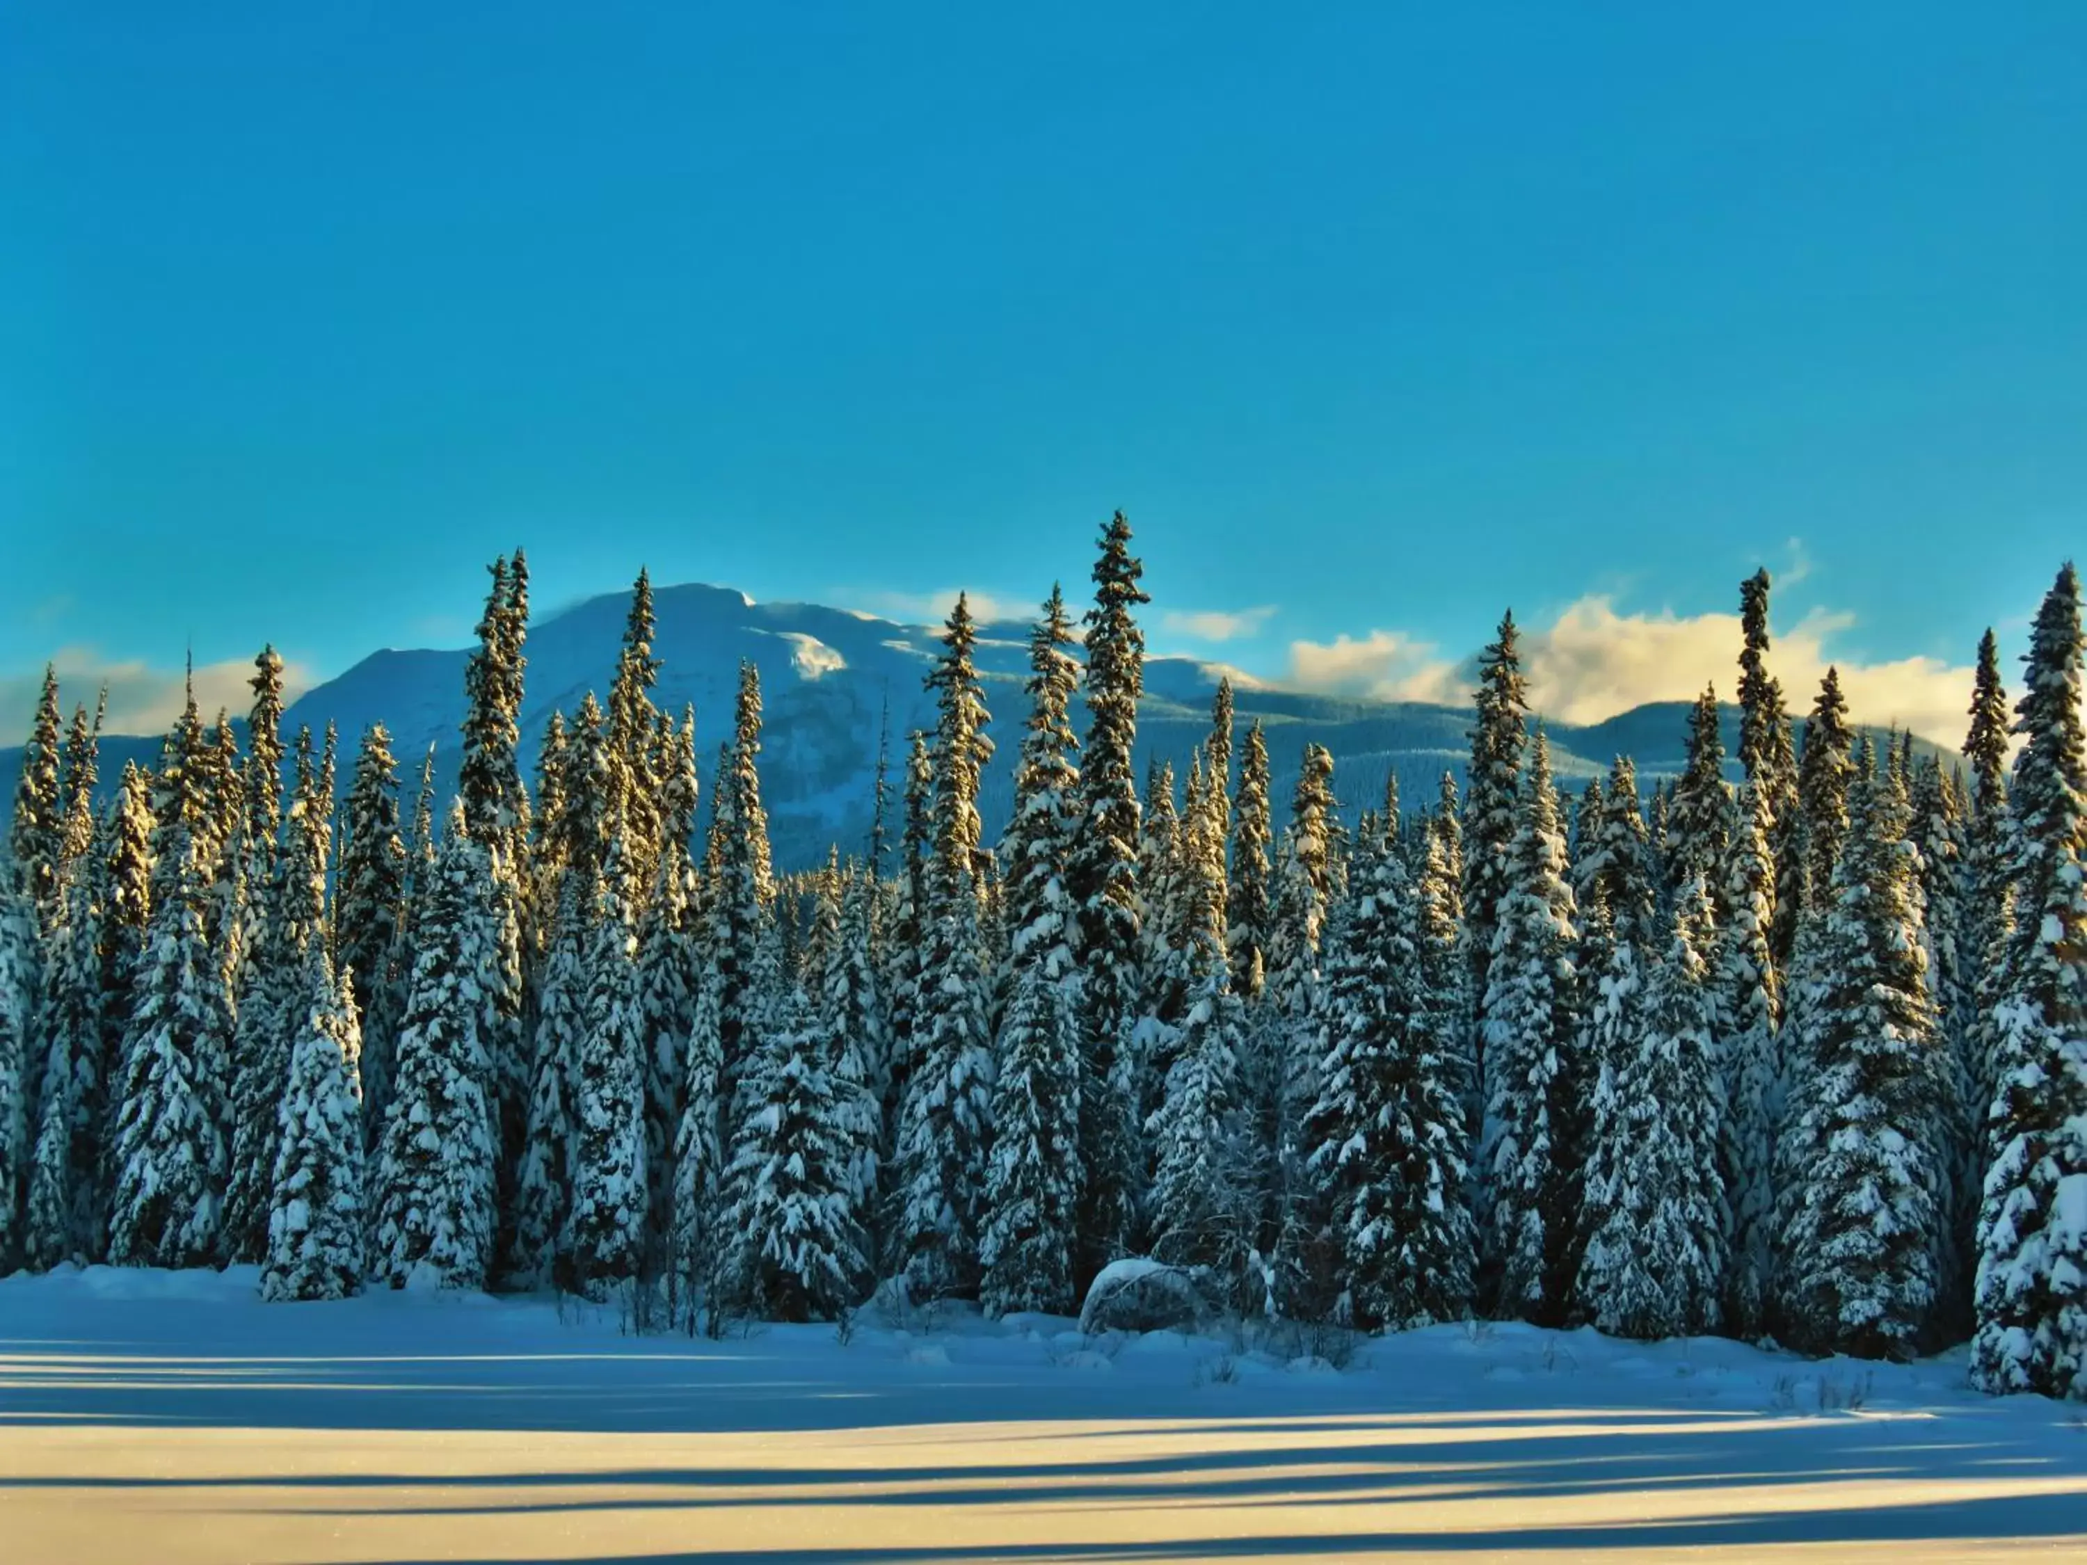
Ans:
{"type": "Polygon", "coordinates": [[[1079,684],[1064,595],[1052,586],[1029,639],[1029,722],[1014,768],[1008,860],[1008,1012],[993,1050],[993,1150],[979,1237],[987,1315],[1071,1313],[1079,1171],[1079,1025],[1066,889],[1079,808],[1079,684]]]}

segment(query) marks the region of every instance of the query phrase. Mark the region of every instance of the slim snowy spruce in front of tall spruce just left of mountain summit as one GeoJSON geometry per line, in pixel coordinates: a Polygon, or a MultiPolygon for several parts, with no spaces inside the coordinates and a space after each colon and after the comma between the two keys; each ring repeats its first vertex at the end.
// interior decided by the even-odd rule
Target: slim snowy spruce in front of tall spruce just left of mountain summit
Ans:
{"type": "Polygon", "coordinates": [[[637,874],[624,860],[628,837],[628,826],[611,820],[572,1087],[566,1252],[574,1290],[595,1300],[634,1279],[645,1256],[645,1018],[630,933],[637,874]]]}

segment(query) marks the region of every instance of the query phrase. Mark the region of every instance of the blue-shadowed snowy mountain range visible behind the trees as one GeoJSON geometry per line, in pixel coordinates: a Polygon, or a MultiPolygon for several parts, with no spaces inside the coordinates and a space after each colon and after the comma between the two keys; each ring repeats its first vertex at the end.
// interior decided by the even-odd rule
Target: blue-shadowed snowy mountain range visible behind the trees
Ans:
{"type": "MultiPolygon", "coordinates": [[[[534,766],[536,737],[551,712],[572,714],[586,691],[607,695],[626,609],[626,595],[609,593],[530,626],[524,766],[534,766]]],[[[895,833],[906,737],[935,722],[922,684],[939,651],[935,626],[904,626],[818,603],[753,603],[733,588],[701,584],[653,588],[653,651],[662,659],[653,701],[676,718],[685,705],[695,705],[705,795],[716,749],[730,739],[739,661],[760,668],[766,712],[762,797],[778,868],[810,868],[824,860],[829,843],[839,843],[843,853],[868,849],[877,745],[885,722],[893,766],[887,826],[895,833]]],[[[342,755],[353,757],[363,728],[382,720],[407,791],[430,745],[436,778],[447,789],[455,782],[461,755],[457,726],[463,720],[465,657],[463,649],[371,653],[298,697],[284,714],[284,732],[301,724],[319,732],[334,722],[342,755]]],[[[1027,716],[1027,624],[979,626],[977,664],[993,714],[987,735],[995,741],[979,793],[989,835],[998,835],[1014,795],[1014,751],[1027,716]]],[[[1173,760],[1175,770],[1185,774],[1190,751],[1208,732],[1210,697],[1221,672],[1188,657],[1148,659],[1137,722],[1140,776],[1150,757],[1173,760]]],[[[65,691],[67,701],[83,695],[65,691]]],[[[1334,753],[1334,789],[1350,816],[1384,797],[1390,770],[1398,772],[1400,795],[1415,805],[1432,803],[1444,770],[1463,776],[1471,726],[1467,707],[1304,695],[1246,682],[1236,682],[1233,695],[1242,732],[1254,718],[1267,726],[1277,818],[1288,812],[1306,743],[1334,753]]],[[[1083,707],[1075,703],[1073,716],[1075,726],[1085,728],[1083,707]]],[[[1674,774],[1682,768],[1688,703],[1659,701],[1599,724],[1553,722],[1546,728],[1561,789],[1576,791],[1588,776],[1607,772],[1617,753],[1634,755],[1640,776],[1674,774]]],[[[1734,755],[1736,707],[1726,709],[1724,728],[1726,753],[1734,755]]],[[[159,739],[104,739],[104,787],[123,774],[125,760],[152,764],[157,757],[159,739]]],[[[351,764],[344,760],[342,776],[351,764]]],[[[0,749],[0,780],[8,797],[19,770],[21,749],[0,749]]]]}

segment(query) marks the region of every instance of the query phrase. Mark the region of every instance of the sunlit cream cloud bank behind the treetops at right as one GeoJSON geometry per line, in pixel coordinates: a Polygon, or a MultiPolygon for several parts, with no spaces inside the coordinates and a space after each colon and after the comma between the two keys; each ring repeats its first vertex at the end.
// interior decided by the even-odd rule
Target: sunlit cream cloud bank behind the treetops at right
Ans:
{"type": "MultiPolygon", "coordinates": [[[[1801,716],[1820,678],[1837,666],[1855,722],[1897,724],[1958,745],[1970,666],[1939,657],[1882,664],[1834,657],[1832,639],[1853,624],[1849,613],[1814,609],[1776,636],[1768,666],[1791,709],[1801,716]]],[[[1647,701],[1695,699],[1705,684],[1730,701],[1738,689],[1738,647],[1736,613],[1620,613],[1609,597],[1590,595],[1549,626],[1524,628],[1521,666],[1532,707],[1563,722],[1601,722],[1647,701]]],[[[1444,659],[1436,647],[1396,630],[1290,645],[1288,682],[1306,691],[1463,705],[1473,678],[1467,659],[1444,659]]]]}

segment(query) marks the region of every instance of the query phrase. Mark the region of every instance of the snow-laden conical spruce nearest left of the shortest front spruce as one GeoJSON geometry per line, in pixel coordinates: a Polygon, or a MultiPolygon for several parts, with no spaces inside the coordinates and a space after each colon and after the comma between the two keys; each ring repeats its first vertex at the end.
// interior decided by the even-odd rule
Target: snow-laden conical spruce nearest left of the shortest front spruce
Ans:
{"type": "Polygon", "coordinates": [[[115,1127],[109,1258],[119,1267],[205,1267],[221,1254],[225,1004],[202,929],[211,876],[196,828],[167,814],[175,826],[134,977],[115,1127]]]}

